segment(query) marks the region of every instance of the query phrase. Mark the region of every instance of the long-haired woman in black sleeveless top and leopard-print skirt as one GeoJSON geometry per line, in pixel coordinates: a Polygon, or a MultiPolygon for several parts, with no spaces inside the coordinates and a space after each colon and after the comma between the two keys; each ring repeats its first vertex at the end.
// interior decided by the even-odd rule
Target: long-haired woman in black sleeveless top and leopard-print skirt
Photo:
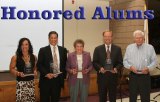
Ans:
{"type": "Polygon", "coordinates": [[[28,38],[21,38],[16,55],[11,58],[10,72],[16,76],[16,102],[35,102],[34,76],[37,58],[28,38]]]}

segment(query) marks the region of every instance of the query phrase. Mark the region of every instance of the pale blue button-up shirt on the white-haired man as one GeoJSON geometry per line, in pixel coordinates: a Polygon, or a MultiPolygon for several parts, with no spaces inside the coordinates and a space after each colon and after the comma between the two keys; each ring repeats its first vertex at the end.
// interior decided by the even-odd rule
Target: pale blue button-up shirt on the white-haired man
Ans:
{"type": "Polygon", "coordinates": [[[136,43],[128,45],[123,64],[128,69],[134,66],[137,70],[142,70],[145,67],[150,71],[153,70],[157,65],[157,56],[153,46],[146,43],[141,46],[137,46],[136,43]]]}

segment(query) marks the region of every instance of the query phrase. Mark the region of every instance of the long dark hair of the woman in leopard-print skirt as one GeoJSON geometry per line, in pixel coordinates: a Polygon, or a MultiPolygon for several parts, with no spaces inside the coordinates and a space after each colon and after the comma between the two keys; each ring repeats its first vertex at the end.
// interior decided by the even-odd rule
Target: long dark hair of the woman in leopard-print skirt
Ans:
{"type": "Polygon", "coordinates": [[[17,51],[16,51],[16,56],[17,56],[17,57],[22,57],[22,56],[23,56],[21,46],[22,46],[22,43],[23,43],[25,40],[27,40],[27,41],[28,41],[28,44],[29,44],[28,53],[29,53],[29,54],[33,54],[33,47],[32,47],[32,44],[31,44],[30,40],[29,40],[28,38],[21,38],[21,39],[19,40],[18,48],[17,48],[17,51]]]}

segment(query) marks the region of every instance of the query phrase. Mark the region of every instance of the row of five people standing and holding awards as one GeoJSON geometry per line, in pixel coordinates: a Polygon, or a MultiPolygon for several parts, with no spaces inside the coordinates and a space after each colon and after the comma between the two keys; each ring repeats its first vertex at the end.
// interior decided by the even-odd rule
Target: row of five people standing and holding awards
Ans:
{"type": "Polygon", "coordinates": [[[59,102],[64,79],[68,74],[70,101],[87,102],[90,71],[97,71],[99,102],[116,102],[118,71],[128,68],[130,102],[136,102],[140,94],[142,102],[150,101],[149,71],[157,64],[154,48],[144,43],[144,33],[136,30],[133,33],[134,43],[128,45],[124,60],[121,48],[112,43],[112,31],[103,32],[104,44],[94,50],[93,61],[89,52],[84,51],[84,41],[75,40],[74,52],[58,46],[58,33],[48,34],[49,45],[39,50],[38,59],[28,38],[21,38],[16,54],[11,58],[10,71],[16,76],[16,102],[35,102],[34,76],[40,72],[40,102],[59,102]],[[24,69],[29,66],[33,75],[25,75],[24,69]]]}

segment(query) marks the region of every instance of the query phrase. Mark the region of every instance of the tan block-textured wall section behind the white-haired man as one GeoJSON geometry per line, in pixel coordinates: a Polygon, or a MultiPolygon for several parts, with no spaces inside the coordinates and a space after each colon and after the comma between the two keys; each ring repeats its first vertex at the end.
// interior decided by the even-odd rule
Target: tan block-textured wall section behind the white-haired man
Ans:
{"type": "MultiPolygon", "coordinates": [[[[110,6],[115,10],[144,10],[144,0],[112,0],[110,6]]],[[[114,43],[121,46],[124,54],[128,44],[133,43],[133,32],[144,30],[144,20],[110,20],[114,33],[114,43]]]]}

